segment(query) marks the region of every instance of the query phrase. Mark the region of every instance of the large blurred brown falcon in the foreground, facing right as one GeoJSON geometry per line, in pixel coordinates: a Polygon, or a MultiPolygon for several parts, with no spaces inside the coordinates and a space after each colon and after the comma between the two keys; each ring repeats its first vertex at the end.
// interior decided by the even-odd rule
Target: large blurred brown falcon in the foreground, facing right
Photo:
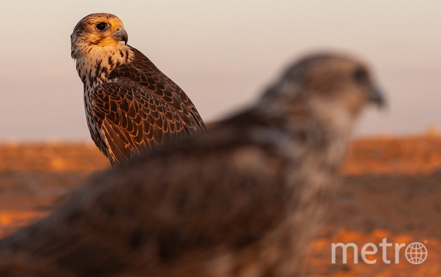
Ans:
{"type": "Polygon", "coordinates": [[[364,64],[307,56],[249,109],[103,172],[0,241],[0,272],[298,276],[371,102],[364,64]]]}

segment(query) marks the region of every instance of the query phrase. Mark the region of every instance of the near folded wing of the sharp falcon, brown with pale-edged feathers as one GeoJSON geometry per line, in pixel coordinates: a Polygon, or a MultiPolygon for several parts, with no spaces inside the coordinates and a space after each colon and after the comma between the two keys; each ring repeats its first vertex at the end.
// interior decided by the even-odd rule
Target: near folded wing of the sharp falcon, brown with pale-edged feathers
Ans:
{"type": "Polygon", "coordinates": [[[92,110],[114,165],[191,132],[185,116],[133,82],[97,86],[92,110]]]}

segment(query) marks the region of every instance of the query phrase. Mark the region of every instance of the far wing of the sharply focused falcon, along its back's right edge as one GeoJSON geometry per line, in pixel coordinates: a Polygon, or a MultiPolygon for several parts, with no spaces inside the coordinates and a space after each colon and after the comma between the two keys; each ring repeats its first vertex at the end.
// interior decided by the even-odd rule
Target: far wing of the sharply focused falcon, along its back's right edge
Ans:
{"type": "Polygon", "coordinates": [[[205,130],[204,121],[187,94],[162,73],[148,57],[133,47],[131,50],[135,54],[133,60],[116,67],[109,73],[108,78],[127,78],[148,88],[176,111],[185,114],[182,120],[189,129],[205,130]]]}

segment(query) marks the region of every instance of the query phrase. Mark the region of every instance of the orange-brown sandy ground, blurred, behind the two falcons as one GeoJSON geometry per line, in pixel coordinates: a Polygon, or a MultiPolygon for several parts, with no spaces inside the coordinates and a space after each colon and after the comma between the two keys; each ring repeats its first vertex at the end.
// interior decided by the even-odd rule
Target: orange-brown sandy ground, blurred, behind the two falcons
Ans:
{"type": "MultiPolygon", "coordinates": [[[[89,174],[107,166],[90,144],[0,145],[0,236],[46,215],[89,174]]],[[[359,139],[342,173],[329,219],[310,244],[304,275],[441,276],[441,136],[359,139]],[[384,256],[383,239],[394,244],[385,247],[384,256]],[[413,242],[427,248],[421,264],[406,259],[406,247],[413,242]],[[332,243],[355,243],[358,251],[350,248],[343,263],[337,249],[333,264],[332,243]],[[375,244],[378,252],[363,256],[366,243],[375,244]],[[406,246],[398,251],[398,263],[396,243],[406,246]],[[368,264],[363,258],[376,261],[368,264]]]]}

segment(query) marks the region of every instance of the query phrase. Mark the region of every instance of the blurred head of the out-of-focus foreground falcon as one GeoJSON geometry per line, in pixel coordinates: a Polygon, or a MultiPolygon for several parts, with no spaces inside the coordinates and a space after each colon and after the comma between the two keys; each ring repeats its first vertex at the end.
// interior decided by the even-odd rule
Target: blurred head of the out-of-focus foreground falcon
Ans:
{"type": "Polygon", "coordinates": [[[355,58],[337,54],[306,56],[288,67],[264,96],[288,109],[306,107],[322,117],[355,117],[363,106],[384,104],[369,69],[355,58]]]}

